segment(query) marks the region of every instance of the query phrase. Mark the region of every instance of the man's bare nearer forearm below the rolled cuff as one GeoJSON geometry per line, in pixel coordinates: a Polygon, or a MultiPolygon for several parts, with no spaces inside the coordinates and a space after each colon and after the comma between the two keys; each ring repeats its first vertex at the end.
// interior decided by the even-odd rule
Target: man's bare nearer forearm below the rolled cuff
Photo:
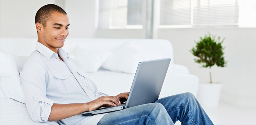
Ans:
{"type": "Polygon", "coordinates": [[[88,111],[86,103],[57,104],[53,103],[48,121],[65,119],[88,111]]]}

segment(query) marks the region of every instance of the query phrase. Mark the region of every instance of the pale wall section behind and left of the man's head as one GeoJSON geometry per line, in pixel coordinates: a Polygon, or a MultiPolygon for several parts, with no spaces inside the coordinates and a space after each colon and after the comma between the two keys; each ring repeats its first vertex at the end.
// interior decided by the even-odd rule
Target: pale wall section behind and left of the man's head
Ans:
{"type": "Polygon", "coordinates": [[[50,3],[62,7],[64,1],[0,0],[0,37],[36,38],[36,12],[50,3]]]}

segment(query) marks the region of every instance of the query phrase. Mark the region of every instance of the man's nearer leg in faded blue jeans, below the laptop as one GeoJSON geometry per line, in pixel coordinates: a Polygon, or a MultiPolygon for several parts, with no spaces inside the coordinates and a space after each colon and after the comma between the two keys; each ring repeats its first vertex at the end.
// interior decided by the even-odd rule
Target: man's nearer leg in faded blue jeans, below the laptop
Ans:
{"type": "Polygon", "coordinates": [[[150,103],[104,115],[97,125],[174,125],[164,106],[150,103]]]}

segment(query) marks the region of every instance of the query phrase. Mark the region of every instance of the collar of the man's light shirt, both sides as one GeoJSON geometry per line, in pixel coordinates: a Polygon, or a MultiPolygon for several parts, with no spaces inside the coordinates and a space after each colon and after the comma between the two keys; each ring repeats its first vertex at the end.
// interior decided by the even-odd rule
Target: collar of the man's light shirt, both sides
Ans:
{"type": "Polygon", "coordinates": [[[59,58],[58,57],[58,54],[59,54],[62,59],[63,58],[68,59],[68,53],[65,52],[62,48],[58,48],[58,54],[57,54],[57,53],[53,52],[51,49],[49,49],[48,47],[46,47],[45,45],[43,45],[37,41],[35,49],[38,52],[40,52],[47,60],[49,60],[53,54],[55,55],[56,58],[59,58]]]}

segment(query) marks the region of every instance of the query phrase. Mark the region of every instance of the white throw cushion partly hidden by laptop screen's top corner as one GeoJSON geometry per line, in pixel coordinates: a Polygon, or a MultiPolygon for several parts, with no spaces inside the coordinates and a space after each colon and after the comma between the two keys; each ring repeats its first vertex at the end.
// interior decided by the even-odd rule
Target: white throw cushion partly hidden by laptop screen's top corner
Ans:
{"type": "Polygon", "coordinates": [[[133,42],[127,42],[113,52],[102,68],[115,72],[135,73],[139,62],[167,57],[144,50],[133,42]]]}

